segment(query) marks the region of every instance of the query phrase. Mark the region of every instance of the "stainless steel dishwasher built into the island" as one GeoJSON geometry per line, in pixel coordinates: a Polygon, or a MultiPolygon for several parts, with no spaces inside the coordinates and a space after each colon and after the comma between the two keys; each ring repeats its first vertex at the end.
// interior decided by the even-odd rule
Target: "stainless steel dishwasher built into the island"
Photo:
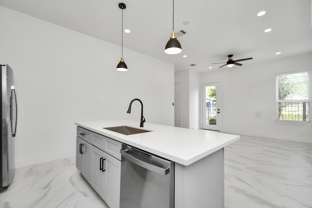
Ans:
{"type": "Polygon", "coordinates": [[[175,163],[122,144],[120,208],[174,208],[175,163]]]}

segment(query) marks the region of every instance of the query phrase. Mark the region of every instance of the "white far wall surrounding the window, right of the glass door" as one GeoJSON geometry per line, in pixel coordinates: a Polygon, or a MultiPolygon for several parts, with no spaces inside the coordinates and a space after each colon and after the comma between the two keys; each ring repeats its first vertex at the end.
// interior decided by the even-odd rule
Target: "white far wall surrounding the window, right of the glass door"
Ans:
{"type": "Polygon", "coordinates": [[[312,143],[312,126],[274,122],[275,75],[307,69],[312,53],[202,73],[200,82],[221,82],[221,131],[312,143]]]}

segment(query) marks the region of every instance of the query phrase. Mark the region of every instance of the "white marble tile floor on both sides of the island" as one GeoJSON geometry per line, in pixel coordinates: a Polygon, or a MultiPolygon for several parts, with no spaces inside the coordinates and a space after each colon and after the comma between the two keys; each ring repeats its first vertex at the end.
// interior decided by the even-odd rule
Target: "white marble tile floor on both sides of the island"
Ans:
{"type": "MultiPolygon", "coordinates": [[[[312,144],[241,136],[225,148],[224,183],[225,208],[312,208],[312,144]]],[[[0,208],[108,206],[72,157],[17,169],[0,208]]]]}

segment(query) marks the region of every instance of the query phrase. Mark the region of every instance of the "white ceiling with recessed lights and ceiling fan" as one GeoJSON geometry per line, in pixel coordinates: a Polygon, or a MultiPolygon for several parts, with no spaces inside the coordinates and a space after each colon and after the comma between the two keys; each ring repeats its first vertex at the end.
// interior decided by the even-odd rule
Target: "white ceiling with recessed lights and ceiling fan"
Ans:
{"type": "MultiPolygon", "coordinates": [[[[220,65],[210,63],[226,61],[229,54],[234,60],[254,57],[241,62],[248,67],[312,51],[310,0],[176,0],[175,31],[187,32],[178,38],[183,49],[178,55],[164,53],[172,32],[172,0],[0,0],[0,5],[121,45],[119,2],[127,5],[124,29],[131,30],[124,34],[124,47],[175,63],[176,71],[214,70],[220,65]],[[262,10],[267,14],[257,17],[262,10]],[[267,28],[272,32],[264,33],[267,28]]],[[[127,62],[126,53],[123,57],[127,62]]]]}

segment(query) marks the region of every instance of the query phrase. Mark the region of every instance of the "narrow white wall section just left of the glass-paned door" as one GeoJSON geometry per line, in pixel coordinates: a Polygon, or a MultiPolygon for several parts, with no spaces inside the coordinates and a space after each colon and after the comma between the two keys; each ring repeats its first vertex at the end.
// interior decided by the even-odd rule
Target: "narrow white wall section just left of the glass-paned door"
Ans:
{"type": "Polygon", "coordinates": [[[188,70],[175,73],[175,83],[181,85],[182,127],[199,129],[200,78],[188,70]]]}

